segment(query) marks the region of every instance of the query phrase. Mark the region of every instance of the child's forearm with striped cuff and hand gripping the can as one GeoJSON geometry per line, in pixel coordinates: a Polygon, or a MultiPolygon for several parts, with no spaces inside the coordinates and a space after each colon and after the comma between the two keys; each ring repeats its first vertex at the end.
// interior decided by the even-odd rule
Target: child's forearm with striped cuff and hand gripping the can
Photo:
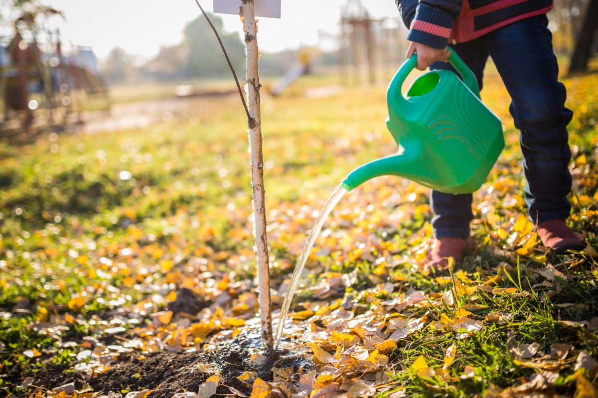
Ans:
{"type": "Polygon", "coordinates": [[[436,61],[446,62],[446,50],[454,20],[461,12],[463,0],[395,0],[405,25],[410,27],[411,41],[407,57],[417,53],[417,69],[425,70],[436,61]]]}

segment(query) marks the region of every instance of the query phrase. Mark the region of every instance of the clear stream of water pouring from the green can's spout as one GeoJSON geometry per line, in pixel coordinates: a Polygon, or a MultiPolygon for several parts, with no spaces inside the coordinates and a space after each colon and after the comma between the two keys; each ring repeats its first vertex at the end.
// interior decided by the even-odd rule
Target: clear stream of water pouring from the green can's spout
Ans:
{"type": "Polygon", "coordinates": [[[286,290],[285,299],[282,302],[282,308],[280,309],[280,317],[278,319],[278,326],[276,327],[276,341],[275,341],[275,348],[278,348],[280,343],[280,338],[282,337],[282,329],[285,328],[285,320],[286,316],[289,312],[289,308],[291,307],[291,302],[293,299],[293,295],[295,294],[295,290],[297,289],[297,285],[299,284],[299,278],[301,276],[301,272],[303,268],[305,268],[305,263],[307,258],[309,257],[309,253],[312,251],[313,244],[316,241],[316,238],[320,234],[322,229],[322,225],[324,225],[324,221],[328,218],[328,215],[334,209],[334,206],[341,200],[344,194],[346,194],[347,190],[343,188],[342,185],[338,185],[330,198],[324,205],[324,208],[320,212],[318,219],[316,219],[316,223],[313,225],[312,231],[309,232],[307,235],[307,241],[305,246],[303,246],[303,252],[301,252],[301,256],[299,256],[299,260],[297,261],[297,267],[295,267],[295,271],[293,271],[293,275],[291,277],[291,282],[289,283],[289,287],[286,290]]]}

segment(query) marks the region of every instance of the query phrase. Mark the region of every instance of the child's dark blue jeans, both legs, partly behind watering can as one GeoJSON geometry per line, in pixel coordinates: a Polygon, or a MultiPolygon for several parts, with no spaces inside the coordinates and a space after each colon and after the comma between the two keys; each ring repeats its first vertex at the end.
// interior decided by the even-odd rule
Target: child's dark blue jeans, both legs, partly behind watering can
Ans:
{"type": "MultiPolygon", "coordinates": [[[[507,87],[509,111],[521,133],[529,217],[538,224],[566,219],[571,209],[567,125],[573,112],[565,108],[565,86],[557,80],[559,66],[547,26],[545,15],[530,17],[451,46],[474,72],[480,88],[488,56],[507,87]]],[[[432,64],[431,69],[454,71],[444,62],[432,64]]],[[[435,237],[469,237],[471,204],[471,194],[432,191],[435,237]]]]}

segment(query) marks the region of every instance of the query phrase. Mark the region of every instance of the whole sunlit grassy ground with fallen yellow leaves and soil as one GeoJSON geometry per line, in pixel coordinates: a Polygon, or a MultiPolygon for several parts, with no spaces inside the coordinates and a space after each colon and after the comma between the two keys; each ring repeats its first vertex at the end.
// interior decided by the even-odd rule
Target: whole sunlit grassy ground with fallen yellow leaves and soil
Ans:
{"type": "MultiPolygon", "coordinates": [[[[275,322],[332,189],[396,151],[384,88],[304,96],[332,84],[264,98],[275,322]]],[[[451,275],[424,275],[427,190],[368,182],[327,221],[273,356],[256,329],[237,97],[135,130],[1,144],[0,396],[597,396],[598,75],[565,84],[583,253],[536,242],[508,95],[490,74],[483,97],[508,146],[475,195],[477,250],[451,275]]]]}

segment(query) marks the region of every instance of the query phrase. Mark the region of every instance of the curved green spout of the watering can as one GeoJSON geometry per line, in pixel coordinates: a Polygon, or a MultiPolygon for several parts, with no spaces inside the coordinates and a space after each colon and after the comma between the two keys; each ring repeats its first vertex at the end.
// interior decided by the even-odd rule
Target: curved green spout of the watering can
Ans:
{"type": "Polygon", "coordinates": [[[362,183],[379,176],[400,176],[421,181],[425,179],[422,175],[421,154],[420,145],[410,145],[409,150],[405,150],[402,154],[363,164],[345,177],[342,183],[343,188],[351,191],[362,183]]]}

